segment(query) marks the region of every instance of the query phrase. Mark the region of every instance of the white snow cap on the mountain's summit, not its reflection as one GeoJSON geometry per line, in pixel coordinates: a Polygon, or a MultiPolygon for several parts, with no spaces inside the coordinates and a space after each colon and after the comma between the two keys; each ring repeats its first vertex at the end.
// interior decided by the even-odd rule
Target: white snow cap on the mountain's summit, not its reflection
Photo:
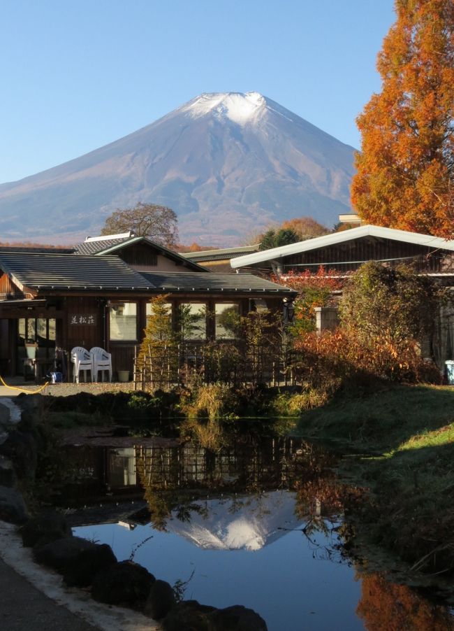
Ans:
{"type": "Polygon", "coordinates": [[[218,92],[200,94],[182,108],[191,118],[207,114],[229,118],[237,125],[246,125],[261,118],[266,111],[266,99],[258,92],[218,92]]]}

